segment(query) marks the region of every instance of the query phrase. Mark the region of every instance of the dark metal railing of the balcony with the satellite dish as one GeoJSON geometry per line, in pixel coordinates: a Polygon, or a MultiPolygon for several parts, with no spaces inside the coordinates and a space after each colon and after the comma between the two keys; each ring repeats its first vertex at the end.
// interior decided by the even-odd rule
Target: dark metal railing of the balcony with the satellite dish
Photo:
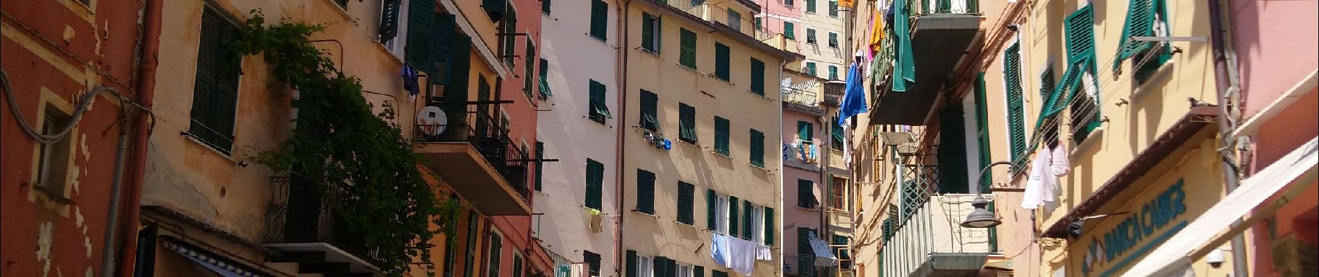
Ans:
{"type": "Polygon", "coordinates": [[[491,167],[517,190],[522,200],[530,200],[528,168],[532,158],[516,144],[508,133],[508,122],[489,116],[489,109],[467,112],[450,117],[446,125],[417,125],[421,142],[466,142],[480,152],[491,167]],[[430,134],[430,135],[427,135],[430,134]]]}

